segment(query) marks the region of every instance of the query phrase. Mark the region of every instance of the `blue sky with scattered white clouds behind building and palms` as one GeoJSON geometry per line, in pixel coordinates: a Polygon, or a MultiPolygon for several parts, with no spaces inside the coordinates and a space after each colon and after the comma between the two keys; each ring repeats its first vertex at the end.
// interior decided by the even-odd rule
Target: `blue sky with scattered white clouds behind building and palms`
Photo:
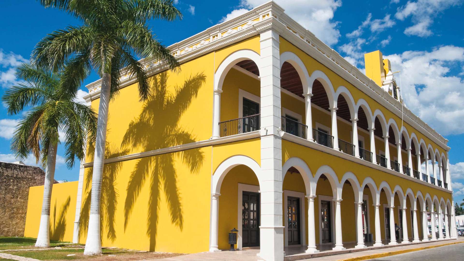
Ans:
{"type": "MultiPolygon", "coordinates": [[[[150,21],[157,39],[171,45],[224,20],[245,13],[264,0],[174,1],[184,14],[175,22],[150,21]]],[[[277,0],[287,14],[364,69],[363,54],[380,49],[401,71],[406,105],[449,140],[455,201],[464,196],[464,7],[459,0],[277,0]]],[[[15,83],[14,68],[27,61],[47,33],[80,22],[45,9],[33,0],[2,3],[0,24],[0,95],[15,83]]],[[[84,84],[97,79],[92,74],[84,84]]],[[[398,78],[398,76],[397,76],[398,78]]],[[[86,94],[82,86],[80,95],[86,94]]],[[[10,139],[20,116],[0,110],[0,161],[15,161],[10,139]]],[[[63,146],[58,148],[63,155],[63,146]]],[[[26,163],[35,161],[28,158],[26,163]]],[[[78,165],[68,170],[58,157],[57,180],[77,180],[78,165]]]]}

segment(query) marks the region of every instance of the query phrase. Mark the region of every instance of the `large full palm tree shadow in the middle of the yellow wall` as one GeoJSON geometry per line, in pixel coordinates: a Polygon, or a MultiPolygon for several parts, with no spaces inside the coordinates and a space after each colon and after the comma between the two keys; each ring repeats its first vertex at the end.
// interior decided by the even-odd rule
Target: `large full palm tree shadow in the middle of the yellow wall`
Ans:
{"type": "MultiPolygon", "coordinates": [[[[178,127],[178,124],[193,98],[197,97],[200,87],[206,81],[206,76],[203,73],[192,75],[182,86],[174,87],[174,94],[168,91],[167,80],[167,72],[154,77],[152,95],[145,101],[141,114],[129,124],[122,147],[149,151],[195,142],[192,134],[178,127]]],[[[124,204],[124,230],[127,228],[142,186],[148,180],[150,194],[147,235],[150,238],[150,251],[155,251],[156,246],[161,189],[168,204],[171,222],[180,230],[183,228],[182,204],[174,167],[175,157],[180,157],[191,173],[198,173],[204,155],[200,149],[192,149],[180,153],[143,157],[136,163],[129,178],[124,204]]]]}

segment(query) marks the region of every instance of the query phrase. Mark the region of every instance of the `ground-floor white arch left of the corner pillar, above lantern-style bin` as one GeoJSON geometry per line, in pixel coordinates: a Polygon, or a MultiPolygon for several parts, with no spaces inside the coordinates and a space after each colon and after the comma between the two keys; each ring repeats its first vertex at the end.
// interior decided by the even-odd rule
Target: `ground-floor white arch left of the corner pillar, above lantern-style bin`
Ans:
{"type": "Polygon", "coordinates": [[[245,165],[249,167],[251,170],[253,170],[255,175],[258,177],[259,186],[261,187],[261,181],[263,180],[263,177],[261,174],[261,167],[259,166],[259,164],[251,157],[244,155],[235,155],[227,158],[225,161],[220,163],[219,166],[216,168],[216,171],[214,171],[213,180],[211,184],[211,194],[220,194],[221,185],[222,181],[224,180],[224,177],[229,172],[229,170],[232,170],[233,167],[238,165],[245,165]]]}

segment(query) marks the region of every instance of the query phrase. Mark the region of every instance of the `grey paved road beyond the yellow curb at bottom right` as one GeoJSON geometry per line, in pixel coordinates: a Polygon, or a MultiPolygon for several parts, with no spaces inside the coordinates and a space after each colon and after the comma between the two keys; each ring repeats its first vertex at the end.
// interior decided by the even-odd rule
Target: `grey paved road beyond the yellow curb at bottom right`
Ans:
{"type": "Polygon", "coordinates": [[[462,261],[464,260],[464,244],[456,244],[451,246],[444,246],[438,248],[431,248],[420,250],[416,252],[397,254],[377,259],[371,259],[371,261],[462,261]]]}

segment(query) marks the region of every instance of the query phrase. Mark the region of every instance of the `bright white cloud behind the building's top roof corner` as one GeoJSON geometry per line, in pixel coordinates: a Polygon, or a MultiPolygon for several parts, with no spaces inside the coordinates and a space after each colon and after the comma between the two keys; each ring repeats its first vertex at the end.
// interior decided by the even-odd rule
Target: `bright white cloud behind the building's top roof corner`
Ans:
{"type": "MultiPolygon", "coordinates": [[[[267,0],[241,0],[238,8],[227,14],[223,20],[230,20],[245,13],[244,10],[257,7],[265,2],[267,0]]],[[[277,0],[277,4],[284,8],[285,13],[291,18],[326,44],[335,45],[338,42],[340,31],[337,29],[338,22],[333,18],[335,10],[342,6],[341,0],[277,0]]]]}

